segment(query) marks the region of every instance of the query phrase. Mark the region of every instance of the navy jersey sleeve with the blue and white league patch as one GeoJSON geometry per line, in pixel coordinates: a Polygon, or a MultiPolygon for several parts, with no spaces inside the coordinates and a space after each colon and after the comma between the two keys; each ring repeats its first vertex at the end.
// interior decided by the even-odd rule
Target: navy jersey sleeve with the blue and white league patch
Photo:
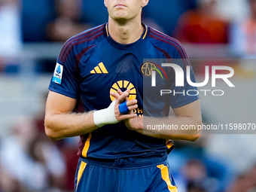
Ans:
{"type": "Polygon", "coordinates": [[[79,75],[74,50],[70,41],[68,40],[63,45],[59,53],[49,90],[77,99],[79,75]]]}

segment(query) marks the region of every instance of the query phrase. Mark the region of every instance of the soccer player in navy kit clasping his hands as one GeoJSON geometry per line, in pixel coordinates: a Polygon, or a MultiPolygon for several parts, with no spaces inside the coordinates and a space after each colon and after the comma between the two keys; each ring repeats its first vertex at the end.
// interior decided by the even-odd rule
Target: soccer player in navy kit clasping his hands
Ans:
{"type": "Polygon", "coordinates": [[[143,93],[143,78],[151,79],[151,70],[161,68],[151,59],[172,59],[182,69],[190,65],[177,40],[142,23],[148,1],[105,0],[108,23],[70,38],[59,53],[45,132],[50,139],[81,136],[75,191],[177,191],[167,162],[170,139],[195,141],[200,136],[197,130],[147,130],[143,123],[178,128],[201,123],[198,96],[182,94],[196,88],[185,80],[184,87],[176,87],[175,71],[168,67],[163,68],[166,79],[157,73],[156,87],[179,94],[147,101],[145,108],[143,94],[152,93],[143,93]],[[123,102],[126,110],[120,113],[123,102]],[[168,117],[169,105],[175,117],[168,117]]]}

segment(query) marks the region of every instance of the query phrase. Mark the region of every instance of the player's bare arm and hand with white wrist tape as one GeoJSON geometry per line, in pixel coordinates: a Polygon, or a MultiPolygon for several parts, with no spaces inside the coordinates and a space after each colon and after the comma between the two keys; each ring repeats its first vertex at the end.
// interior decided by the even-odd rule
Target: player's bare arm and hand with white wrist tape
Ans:
{"type": "MultiPolygon", "coordinates": [[[[50,139],[63,139],[72,136],[82,136],[93,132],[105,124],[118,123],[120,120],[136,117],[136,114],[120,114],[119,105],[129,95],[126,90],[111,102],[108,108],[87,113],[72,113],[76,100],[59,93],[50,92],[45,108],[45,133],[50,139]]],[[[138,108],[137,100],[126,102],[130,111],[138,108]]]]}

